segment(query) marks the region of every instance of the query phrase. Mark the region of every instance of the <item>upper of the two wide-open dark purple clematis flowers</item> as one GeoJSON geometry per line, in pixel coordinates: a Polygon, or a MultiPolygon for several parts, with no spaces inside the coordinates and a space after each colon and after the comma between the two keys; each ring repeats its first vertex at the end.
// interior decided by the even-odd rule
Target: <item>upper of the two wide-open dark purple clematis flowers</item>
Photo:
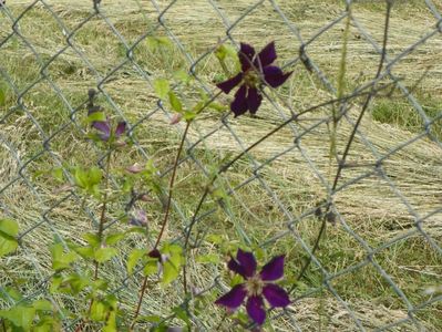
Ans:
{"type": "Polygon", "coordinates": [[[292,72],[284,73],[282,70],[271,63],[276,60],[275,42],[270,42],[258,54],[255,49],[246,43],[240,43],[238,52],[241,72],[234,77],[216,84],[224,93],[228,94],[239,85],[230,110],[235,117],[249,111],[255,114],[261,104],[263,95],[258,85],[265,83],[271,87],[281,85],[292,72]]]}

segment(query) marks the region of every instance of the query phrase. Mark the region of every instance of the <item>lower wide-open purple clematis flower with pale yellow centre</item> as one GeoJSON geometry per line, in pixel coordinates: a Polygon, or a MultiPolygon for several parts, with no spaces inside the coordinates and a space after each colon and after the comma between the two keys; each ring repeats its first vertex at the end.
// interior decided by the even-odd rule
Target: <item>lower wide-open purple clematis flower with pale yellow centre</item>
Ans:
{"type": "Polygon", "coordinates": [[[284,255],[273,258],[263,267],[260,272],[257,272],[255,256],[251,252],[238,249],[236,259],[232,258],[227,267],[240,274],[245,282],[235,286],[215,303],[235,310],[247,298],[248,315],[254,322],[261,325],[266,320],[264,299],[273,308],[285,308],[290,303],[287,292],[273,282],[284,277],[284,255]]]}

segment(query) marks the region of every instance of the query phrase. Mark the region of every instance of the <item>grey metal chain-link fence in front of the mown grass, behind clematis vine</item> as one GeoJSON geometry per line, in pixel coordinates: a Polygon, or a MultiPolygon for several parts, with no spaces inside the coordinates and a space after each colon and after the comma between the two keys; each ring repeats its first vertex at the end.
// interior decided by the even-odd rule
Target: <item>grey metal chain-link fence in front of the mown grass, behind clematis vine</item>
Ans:
{"type": "MultiPolygon", "coordinates": [[[[25,299],[66,301],[49,292],[47,248],[54,237],[64,242],[94,229],[99,210],[47,174],[61,167],[69,176],[66,165],[106,157],[84,138],[90,89],[129,124],[134,152],[119,153],[116,164],[152,159],[167,179],[184,125],[169,124],[173,111],[155,96],[154,80],[185,69],[196,91],[226,104],[214,84],[222,72],[214,51],[220,43],[264,46],[264,39],[276,41],[281,68],[294,73],[277,92],[263,91],[256,117],[208,112],[192,123],[169,237],[181,241],[187,231],[192,252],[210,252],[213,234],[286,252],[287,289],[295,284],[292,303],[271,317],[278,331],[442,329],[441,2],[100,2],[8,0],[0,8],[0,207],[20,225],[20,250],[2,261],[3,295],[20,279],[25,299]],[[332,112],[340,116],[335,147],[332,112]],[[194,216],[214,167],[234,158],[217,179],[228,204],[207,198],[194,216]]],[[[184,104],[198,101],[177,93],[184,104]]],[[[141,203],[154,229],[163,203],[162,195],[141,203]]],[[[124,204],[111,205],[106,231],[125,227],[124,204]]],[[[191,253],[187,268],[198,297],[225,289],[223,264],[196,263],[191,253]]],[[[103,273],[131,310],[142,278],[124,271],[119,258],[103,273]]],[[[179,286],[150,292],[144,315],[173,320],[171,307],[189,301],[179,286]]],[[[17,303],[3,298],[2,308],[17,303]]],[[[193,315],[194,328],[213,331],[218,311],[193,315]]],[[[75,323],[66,319],[65,329],[75,323]]]]}

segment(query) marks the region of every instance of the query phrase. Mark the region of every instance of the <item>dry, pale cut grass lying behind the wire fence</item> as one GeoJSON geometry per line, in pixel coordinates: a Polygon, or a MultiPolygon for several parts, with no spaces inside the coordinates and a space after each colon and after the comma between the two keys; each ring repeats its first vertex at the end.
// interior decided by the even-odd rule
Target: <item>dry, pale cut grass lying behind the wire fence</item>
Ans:
{"type": "MultiPolygon", "coordinates": [[[[251,2],[255,1],[216,1],[230,23],[244,14],[251,2]]],[[[320,28],[337,18],[342,10],[340,1],[281,0],[276,2],[286,17],[300,29],[306,41],[315,35],[320,28]]],[[[442,11],[442,3],[440,1],[434,2],[442,11]]],[[[89,0],[74,2],[61,0],[48,1],[48,3],[71,30],[91,13],[91,1],[89,0]]],[[[106,18],[114,24],[130,46],[141,35],[156,27],[158,11],[164,10],[169,1],[156,1],[158,8],[155,8],[151,1],[138,1],[138,3],[141,3],[142,10],[140,10],[136,1],[103,1],[102,6],[106,18]]],[[[17,18],[28,4],[29,1],[16,1],[10,7],[12,14],[17,18]]],[[[382,8],[362,3],[354,6],[353,13],[366,31],[380,43],[383,33],[382,8]]],[[[11,23],[4,17],[0,18],[1,40],[10,33],[11,23]]],[[[165,35],[166,32],[173,33],[194,60],[210,50],[216,44],[217,39],[225,35],[226,31],[225,24],[214,11],[209,1],[205,0],[177,1],[165,12],[164,20],[167,31],[163,27],[158,27],[155,33],[160,35],[165,35]]],[[[391,18],[388,55],[393,58],[399,54],[422,35],[432,31],[435,23],[435,19],[422,3],[398,1],[391,18]]],[[[20,20],[19,27],[23,37],[32,43],[43,61],[48,61],[55,52],[66,45],[56,21],[41,3],[34,6],[20,20]]],[[[337,81],[342,28],[343,22],[338,23],[307,48],[309,56],[332,83],[337,81]]],[[[259,46],[275,40],[281,64],[295,59],[300,45],[287,24],[274,10],[271,1],[264,1],[256,10],[248,13],[230,31],[230,34],[236,41],[248,41],[259,46]]],[[[73,43],[102,77],[116,65],[126,61],[125,48],[102,19],[95,18],[81,28],[75,34],[73,43]]],[[[394,75],[402,79],[405,86],[411,87],[419,82],[419,86],[415,89],[418,102],[429,108],[439,105],[439,112],[442,101],[440,97],[442,92],[440,45],[441,34],[436,34],[407,55],[392,70],[394,75]],[[425,72],[424,79],[421,80],[425,72]]],[[[169,75],[172,70],[182,65],[189,65],[176,48],[168,50],[167,54],[153,53],[146,48],[145,41],[142,41],[133,49],[133,52],[136,63],[143,70],[152,73],[152,79],[169,75]]],[[[379,54],[372,51],[368,41],[354,25],[351,27],[348,52],[346,89],[350,91],[350,89],[372,80],[379,54]]],[[[3,44],[0,48],[0,59],[2,59],[0,69],[8,73],[19,90],[25,89],[39,77],[38,62],[32,52],[19,40],[10,40],[3,44]],[[23,63],[25,63],[25,66],[23,63]]],[[[203,59],[195,69],[199,77],[208,85],[220,72],[213,55],[203,59]]],[[[308,73],[300,63],[291,65],[290,70],[294,70],[294,75],[287,83],[288,87],[278,91],[278,100],[281,101],[278,106],[281,112],[289,114],[289,110],[282,101],[295,110],[302,110],[331,97],[331,94],[323,89],[319,80],[313,74],[308,73]]],[[[95,73],[72,49],[68,49],[58,56],[48,66],[48,73],[51,80],[56,82],[73,108],[79,107],[85,101],[88,89],[96,85],[95,73]]],[[[155,108],[156,97],[153,90],[131,62],[126,62],[122,69],[113,73],[111,79],[102,87],[130,123],[137,123],[155,108]]],[[[16,105],[17,95],[11,90],[9,90],[9,93],[7,104],[0,106],[1,117],[11,110],[10,107],[16,105]]],[[[405,102],[405,98],[399,95],[399,93],[395,93],[397,98],[389,101],[392,106],[395,103],[405,102]]],[[[195,94],[183,92],[182,96],[189,105],[197,101],[195,94]]],[[[225,96],[220,98],[227,101],[225,96]]],[[[93,163],[90,156],[91,154],[95,156],[95,152],[91,152],[91,145],[82,138],[79,129],[70,123],[66,115],[71,110],[65,107],[48,83],[41,82],[33,86],[23,96],[23,102],[27,105],[28,115],[32,115],[40,123],[47,135],[53,134],[60,125],[69,124],[61,134],[54,136],[51,143],[51,151],[60,160],[65,160],[69,164],[84,163],[84,160],[93,163]]],[[[103,96],[100,97],[100,103],[107,110],[114,110],[103,96]]],[[[376,105],[377,100],[374,100],[373,106],[376,105]]],[[[411,107],[409,106],[403,110],[403,112],[413,112],[410,111],[411,107]]],[[[311,116],[323,117],[329,111],[321,110],[311,116]]],[[[354,120],[359,112],[360,106],[354,103],[348,114],[349,120],[354,120]]],[[[80,113],[75,118],[80,120],[81,124],[83,115],[80,113]]],[[[4,260],[6,267],[11,269],[11,274],[29,277],[29,284],[27,283],[23,288],[31,293],[37,281],[49,273],[50,255],[47,247],[52,242],[53,236],[59,235],[65,239],[75,239],[84,230],[92,230],[93,225],[91,217],[84,211],[81,200],[70,197],[59,204],[60,195],[53,190],[56,186],[54,181],[45,175],[35,176],[39,170],[51,169],[59,165],[54,162],[53,155],[44,152],[42,136],[28,115],[18,112],[9,116],[7,122],[1,125],[0,189],[4,186],[9,187],[0,194],[0,211],[14,217],[22,230],[39,225],[23,238],[23,251],[19,251],[17,256],[11,256],[4,260]],[[31,162],[29,162],[30,158],[31,162]],[[25,164],[22,169],[22,165],[28,162],[29,164],[25,164]],[[11,181],[12,184],[9,185],[11,181]],[[31,186],[28,186],[28,181],[31,186]],[[33,191],[34,189],[37,191],[33,191]],[[47,214],[48,211],[49,214],[47,214]]],[[[259,115],[263,118],[229,120],[229,126],[240,137],[244,146],[248,146],[260,138],[275,126],[275,123],[280,121],[279,114],[269,102],[264,103],[259,115]]],[[[210,114],[208,118],[197,121],[191,131],[189,139],[195,141],[210,129],[218,127],[217,118],[217,114],[210,114]]],[[[313,123],[315,120],[312,118],[302,120],[298,129],[302,132],[302,128],[309,127],[313,123]]],[[[440,127],[434,127],[434,131],[438,129],[440,131],[440,127]]],[[[411,139],[422,132],[422,128],[398,126],[395,123],[382,124],[367,116],[360,131],[376,153],[367,147],[367,143],[357,138],[349,162],[369,166],[346,169],[342,173],[342,183],[351,183],[358,176],[372,172],[372,164],[380,156],[411,139]]],[[[343,120],[337,136],[339,152],[342,152],[350,132],[351,123],[343,120]]],[[[158,165],[169,164],[178,144],[178,134],[176,128],[168,124],[163,112],[143,121],[135,127],[133,134],[140,148],[152,155],[158,165]]],[[[294,137],[294,133],[285,128],[254,148],[251,155],[260,163],[265,163],[291,146],[294,137]]],[[[305,155],[295,148],[275,159],[271,165],[264,167],[260,172],[261,178],[267,181],[280,201],[289,207],[295,215],[305,212],[326,198],[325,187],[319,180],[318,174],[330,181],[330,174],[336,170],[335,166],[330,166],[329,137],[327,125],[318,126],[300,141],[305,155]],[[306,155],[313,162],[317,173],[313,173],[311,165],[306,162],[306,155]]],[[[204,164],[212,165],[213,160],[240,151],[241,147],[235,142],[227,128],[220,127],[216,134],[205,139],[204,145],[194,148],[193,153],[204,164]]],[[[143,160],[142,154],[140,151],[135,151],[123,156],[120,163],[124,165],[125,163],[141,160],[143,160]]],[[[389,180],[402,193],[403,198],[419,216],[425,216],[441,208],[441,145],[424,136],[391,154],[383,160],[380,172],[350,184],[336,196],[337,209],[346,220],[346,225],[373,248],[414,228],[415,220],[412,214],[403,204],[403,199],[400,199],[392,190],[389,180]]],[[[230,169],[225,181],[230,186],[236,186],[249,176],[251,176],[251,167],[247,158],[244,158],[230,169]]],[[[181,168],[176,200],[188,216],[196,205],[192,197],[201,195],[202,184],[204,184],[204,177],[195,165],[187,163],[181,168]]],[[[112,216],[119,215],[121,203],[119,204],[112,207],[112,216]]],[[[237,196],[230,201],[233,215],[219,211],[213,217],[209,225],[213,227],[213,232],[227,234],[232,241],[237,241],[235,232],[232,230],[233,226],[239,225],[248,231],[253,240],[260,242],[286,229],[287,218],[277,208],[270,210],[269,207],[274,205],[273,198],[266,194],[263,186],[258,181],[253,181],[239,189],[237,196]],[[273,227],[268,226],[270,221],[273,227]]],[[[148,207],[152,208],[148,210],[150,220],[153,225],[156,225],[162,216],[161,208],[153,204],[148,207]]],[[[92,214],[96,211],[94,204],[90,204],[88,208],[92,214]]],[[[296,230],[301,234],[302,239],[307,242],[312,241],[318,230],[318,224],[310,221],[310,219],[306,219],[296,225],[296,230]]],[[[330,227],[327,237],[328,242],[320,249],[321,262],[330,271],[338,271],[351,263],[360,262],[367,257],[367,251],[345,231],[346,225],[338,224],[330,227]],[[338,251],[340,253],[333,256],[338,251]]],[[[181,227],[179,216],[174,215],[169,236],[174,236],[181,227]]],[[[204,227],[206,227],[205,224],[204,227]]],[[[426,218],[421,227],[441,246],[441,212],[426,218]]],[[[287,252],[292,255],[294,261],[295,258],[304,258],[299,243],[296,243],[289,237],[278,241],[276,247],[278,247],[278,250],[287,249],[287,252]]],[[[205,247],[202,250],[213,249],[205,247]]],[[[422,295],[422,291],[433,286],[438,280],[440,282],[442,277],[441,257],[423,240],[423,237],[409,238],[386,248],[380,252],[379,261],[392,276],[394,282],[412,299],[414,305],[428,300],[428,297],[422,295]],[[410,272],[410,269],[414,272],[410,272]]],[[[206,266],[193,264],[193,257],[189,259],[189,264],[193,267],[192,280],[198,288],[208,287],[214,274],[222,271],[220,267],[207,268],[206,266]]],[[[116,276],[116,271],[122,268],[124,268],[124,260],[115,262],[104,273],[114,284],[119,284],[123,276],[116,276]]],[[[296,274],[300,267],[299,263],[294,263],[290,268],[294,271],[292,274],[296,274]]],[[[320,284],[318,274],[319,272],[316,269],[309,271],[310,281],[316,287],[320,284]]],[[[8,280],[6,277],[1,279],[8,280]]],[[[138,289],[137,282],[137,280],[131,280],[129,288],[121,293],[122,299],[124,299],[123,303],[127,308],[133,307],[138,289]]],[[[392,295],[389,286],[376,271],[371,270],[371,274],[348,273],[342,277],[342,281],[333,284],[333,287],[338,289],[343,300],[350,305],[367,330],[374,330],[377,326],[407,317],[407,308],[403,302],[394,294],[392,295]]],[[[168,314],[172,303],[178,304],[179,301],[178,289],[154,289],[145,301],[145,310],[150,314],[168,314]]],[[[209,300],[206,304],[212,305],[209,300]]],[[[208,308],[210,308],[210,313],[202,318],[206,329],[215,326],[222,314],[219,310],[215,310],[213,307],[208,308]]],[[[74,310],[78,310],[78,308],[74,308],[74,310]]],[[[276,322],[276,331],[294,331],[296,328],[316,331],[319,323],[326,331],[354,331],[357,329],[347,311],[328,292],[323,292],[317,298],[301,300],[289,310],[292,311],[294,320],[279,319],[276,322]]],[[[442,329],[440,319],[438,319],[441,312],[441,304],[436,303],[421,311],[418,318],[422,326],[425,326],[429,331],[438,331],[442,329]]],[[[417,329],[411,323],[407,323],[394,331],[413,331],[417,329]]]]}

